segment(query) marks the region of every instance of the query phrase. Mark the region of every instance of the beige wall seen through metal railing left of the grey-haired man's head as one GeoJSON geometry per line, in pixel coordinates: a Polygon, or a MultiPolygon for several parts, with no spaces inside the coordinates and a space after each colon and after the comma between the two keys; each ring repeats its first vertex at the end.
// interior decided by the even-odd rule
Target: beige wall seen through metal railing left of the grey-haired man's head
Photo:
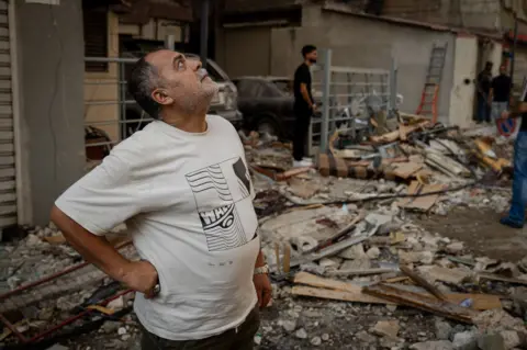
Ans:
{"type": "MultiPolygon", "coordinates": [[[[108,13],[108,57],[119,57],[119,18],[113,12],[108,13]]],[[[85,102],[117,101],[117,64],[110,64],[108,72],[85,72],[85,102]]],[[[112,140],[120,139],[119,105],[85,105],[85,121],[109,122],[108,125],[93,125],[106,132],[112,140]]]]}

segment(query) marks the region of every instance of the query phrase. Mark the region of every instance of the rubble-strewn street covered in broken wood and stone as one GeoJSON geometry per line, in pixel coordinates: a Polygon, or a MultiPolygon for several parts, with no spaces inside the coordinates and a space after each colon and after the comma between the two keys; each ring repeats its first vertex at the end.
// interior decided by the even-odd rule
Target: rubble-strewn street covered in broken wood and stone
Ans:
{"type": "MultiPolygon", "coordinates": [[[[240,135],[273,282],[259,349],[527,347],[526,235],[497,225],[511,197],[512,144],[413,115],[392,124],[360,145],[339,131],[304,169],[291,169],[289,144],[240,135]]],[[[111,239],[137,258],[125,227],[111,239]]],[[[0,249],[2,294],[82,262],[52,226],[0,249]]],[[[57,342],[139,349],[133,293],[93,306],[125,291],[109,285],[86,266],[2,298],[0,312],[31,339],[92,311],[59,331],[99,321],[94,329],[57,342]]],[[[16,341],[4,327],[0,343],[16,341]]]]}

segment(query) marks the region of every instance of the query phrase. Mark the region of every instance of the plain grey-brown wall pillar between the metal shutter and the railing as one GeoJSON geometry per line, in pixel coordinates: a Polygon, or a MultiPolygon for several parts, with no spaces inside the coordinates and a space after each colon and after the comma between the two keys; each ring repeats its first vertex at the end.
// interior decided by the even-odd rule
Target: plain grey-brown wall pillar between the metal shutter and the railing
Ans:
{"type": "Polygon", "coordinates": [[[46,225],[55,199],[82,174],[81,0],[14,1],[20,135],[29,208],[20,224],[46,225]]]}

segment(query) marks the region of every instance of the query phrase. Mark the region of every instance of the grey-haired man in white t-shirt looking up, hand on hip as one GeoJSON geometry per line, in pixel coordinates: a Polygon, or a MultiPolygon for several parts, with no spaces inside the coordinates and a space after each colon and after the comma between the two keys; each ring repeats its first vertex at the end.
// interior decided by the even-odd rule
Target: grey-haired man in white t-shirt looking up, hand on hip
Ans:
{"type": "Polygon", "coordinates": [[[143,349],[251,349],[271,286],[243,145],[206,114],[216,84],[198,59],[157,50],[128,89],[156,121],[69,188],[52,219],[87,261],[137,292],[143,349]],[[103,237],[122,222],[141,261],[103,237]]]}

